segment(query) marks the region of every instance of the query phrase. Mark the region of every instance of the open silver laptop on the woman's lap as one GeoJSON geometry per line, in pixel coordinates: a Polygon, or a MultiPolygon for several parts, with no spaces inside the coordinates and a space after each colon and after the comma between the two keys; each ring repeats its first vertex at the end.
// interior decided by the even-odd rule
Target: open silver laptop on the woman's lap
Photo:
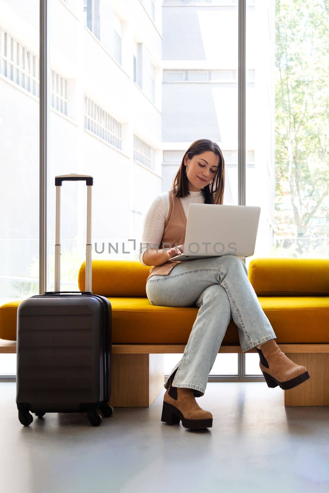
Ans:
{"type": "Polygon", "coordinates": [[[254,254],[260,207],[190,204],[183,253],[170,260],[254,254]]]}

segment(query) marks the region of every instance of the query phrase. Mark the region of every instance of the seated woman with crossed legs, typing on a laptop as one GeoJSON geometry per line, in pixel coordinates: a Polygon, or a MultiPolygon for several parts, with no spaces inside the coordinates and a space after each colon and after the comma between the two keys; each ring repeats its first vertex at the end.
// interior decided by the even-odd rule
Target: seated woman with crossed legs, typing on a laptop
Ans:
{"type": "Polygon", "coordinates": [[[201,139],[183,156],[170,191],[158,195],[145,219],[140,261],[150,269],[146,295],[152,305],[199,308],[183,357],[164,384],[161,421],[186,428],[211,427],[213,416],[195,397],[204,395],[209,373],[227,326],[233,318],[242,352],[256,348],[259,367],[268,387],[288,389],[309,377],[277,346],[276,335],[264,314],[248,270],[234,255],[170,261],[181,253],[188,206],[222,204],[225,169],[217,143],[201,139]],[[169,248],[165,249],[166,246],[169,248]]]}

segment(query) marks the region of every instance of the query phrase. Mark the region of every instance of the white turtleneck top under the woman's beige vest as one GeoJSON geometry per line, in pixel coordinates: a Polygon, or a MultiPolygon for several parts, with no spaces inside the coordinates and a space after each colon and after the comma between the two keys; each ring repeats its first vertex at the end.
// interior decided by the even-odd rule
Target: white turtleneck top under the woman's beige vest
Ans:
{"type": "MultiPolygon", "coordinates": [[[[199,192],[189,192],[189,197],[180,198],[182,202],[183,210],[187,218],[188,206],[190,204],[204,204],[204,196],[202,190],[199,192]]],[[[142,248],[139,252],[139,259],[143,265],[143,255],[146,251],[146,244],[148,247],[156,248],[160,246],[164,227],[166,223],[166,217],[169,212],[169,190],[167,192],[162,192],[160,195],[155,197],[152,204],[146,211],[143,221],[143,231],[142,231],[142,248]]]]}

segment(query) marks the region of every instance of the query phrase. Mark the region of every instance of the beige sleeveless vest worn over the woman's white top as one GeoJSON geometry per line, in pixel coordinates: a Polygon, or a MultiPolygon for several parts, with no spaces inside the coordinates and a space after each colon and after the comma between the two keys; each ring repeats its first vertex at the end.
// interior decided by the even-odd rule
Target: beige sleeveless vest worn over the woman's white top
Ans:
{"type": "MultiPolygon", "coordinates": [[[[166,223],[163,230],[163,236],[159,245],[159,251],[163,248],[173,248],[178,245],[183,245],[186,233],[187,219],[183,210],[182,202],[179,197],[176,197],[173,190],[169,191],[169,212],[166,217],[166,223]],[[168,245],[168,243],[171,245],[168,245]]],[[[178,260],[168,261],[162,265],[156,265],[149,271],[147,280],[155,274],[165,276],[178,264],[182,262],[178,260]]]]}

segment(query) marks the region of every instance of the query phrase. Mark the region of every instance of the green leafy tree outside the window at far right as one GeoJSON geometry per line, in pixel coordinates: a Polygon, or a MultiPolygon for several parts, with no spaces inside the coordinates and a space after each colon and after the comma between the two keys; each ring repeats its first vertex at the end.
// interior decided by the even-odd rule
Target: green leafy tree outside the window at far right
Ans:
{"type": "Polygon", "coordinates": [[[297,236],[328,236],[329,1],[277,0],[275,9],[276,222],[286,196],[297,236]]]}

